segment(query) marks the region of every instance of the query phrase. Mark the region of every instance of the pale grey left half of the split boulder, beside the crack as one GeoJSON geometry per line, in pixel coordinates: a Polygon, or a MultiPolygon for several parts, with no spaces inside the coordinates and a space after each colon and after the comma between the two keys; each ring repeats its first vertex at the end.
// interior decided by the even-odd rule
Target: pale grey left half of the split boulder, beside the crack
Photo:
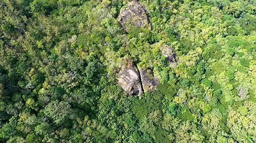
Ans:
{"type": "Polygon", "coordinates": [[[125,68],[118,77],[118,83],[129,95],[140,96],[143,93],[139,74],[134,67],[125,68]]]}

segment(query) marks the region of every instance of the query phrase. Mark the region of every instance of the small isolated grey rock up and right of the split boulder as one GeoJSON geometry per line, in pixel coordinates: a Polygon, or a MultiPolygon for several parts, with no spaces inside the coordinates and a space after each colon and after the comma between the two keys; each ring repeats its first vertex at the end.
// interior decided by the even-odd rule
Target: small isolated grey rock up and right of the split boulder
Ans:
{"type": "Polygon", "coordinates": [[[162,48],[162,54],[166,57],[166,61],[171,65],[171,67],[175,67],[177,65],[176,60],[176,52],[170,46],[165,46],[162,48]]]}

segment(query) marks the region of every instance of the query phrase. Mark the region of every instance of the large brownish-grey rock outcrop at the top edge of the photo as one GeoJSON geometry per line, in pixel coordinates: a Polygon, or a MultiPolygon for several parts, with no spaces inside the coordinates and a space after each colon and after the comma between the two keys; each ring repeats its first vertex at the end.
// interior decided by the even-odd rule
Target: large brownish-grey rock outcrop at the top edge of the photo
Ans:
{"type": "Polygon", "coordinates": [[[120,14],[117,18],[124,30],[128,32],[129,27],[138,26],[143,28],[149,28],[150,24],[147,19],[147,15],[143,7],[138,1],[132,0],[127,4],[127,7],[120,10],[120,14]]]}

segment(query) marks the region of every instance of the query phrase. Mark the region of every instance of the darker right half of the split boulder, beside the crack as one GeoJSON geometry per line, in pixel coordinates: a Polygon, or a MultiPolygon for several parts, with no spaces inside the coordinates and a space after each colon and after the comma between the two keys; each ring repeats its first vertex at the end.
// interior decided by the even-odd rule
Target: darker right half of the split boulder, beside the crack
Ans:
{"type": "Polygon", "coordinates": [[[144,92],[153,91],[159,85],[158,79],[154,77],[154,73],[151,70],[139,69],[139,74],[144,92]]]}

